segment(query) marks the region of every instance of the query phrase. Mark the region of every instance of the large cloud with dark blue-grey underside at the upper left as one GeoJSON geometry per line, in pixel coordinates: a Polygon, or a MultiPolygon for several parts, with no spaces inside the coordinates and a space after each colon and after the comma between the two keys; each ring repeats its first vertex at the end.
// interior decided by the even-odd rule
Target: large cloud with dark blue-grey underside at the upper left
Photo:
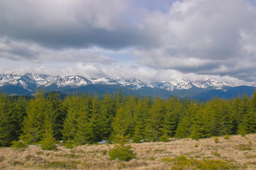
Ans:
{"type": "Polygon", "coordinates": [[[150,46],[157,37],[129,22],[130,1],[9,0],[0,6],[0,36],[49,48],[120,50],[150,46]]]}

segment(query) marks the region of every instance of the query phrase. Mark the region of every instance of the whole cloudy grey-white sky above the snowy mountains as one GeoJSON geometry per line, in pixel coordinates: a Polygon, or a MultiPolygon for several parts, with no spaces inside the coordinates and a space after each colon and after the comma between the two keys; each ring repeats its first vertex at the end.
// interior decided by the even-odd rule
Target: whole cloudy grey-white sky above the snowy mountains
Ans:
{"type": "Polygon", "coordinates": [[[0,73],[256,82],[256,0],[0,0],[0,73]]]}

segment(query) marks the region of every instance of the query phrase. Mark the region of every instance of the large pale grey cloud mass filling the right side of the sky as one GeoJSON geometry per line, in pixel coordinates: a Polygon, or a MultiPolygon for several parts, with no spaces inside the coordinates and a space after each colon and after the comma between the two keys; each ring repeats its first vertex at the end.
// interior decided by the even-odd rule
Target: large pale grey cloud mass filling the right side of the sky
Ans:
{"type": "Polygon", "coordinates": [[[142,64],[195,74],[256,78],[256,8],[247,1],[176,1],[167,13],[156,11],[144,24],[161,45],[134,50],[142,64]],[[245,76],[246,75],[246,76],[245,76]]]}

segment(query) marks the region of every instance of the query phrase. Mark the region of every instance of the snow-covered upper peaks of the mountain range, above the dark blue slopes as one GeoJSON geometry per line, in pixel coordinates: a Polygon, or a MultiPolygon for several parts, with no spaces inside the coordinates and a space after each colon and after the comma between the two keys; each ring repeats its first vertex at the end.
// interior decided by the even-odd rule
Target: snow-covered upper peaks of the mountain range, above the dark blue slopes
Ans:
{"type": "Polygon", "coordinates": [[[63,77],[53,77],[43,74],[0,74],[0,86],[4,85],[16,85],[23,86],[24,89],[29,89],[29,86],[50,86],[56,85],[58,87],[79,87],[87,86],[90,84],[104,84],[104,85],[119,85],[126,86],[131,89],[142,89],[142,88],[159,88],[165,89],[167,91],[173,91],[174,89],[191,89],[193,86],[201,89],[223,89],[225,86],[238,86],[225,81],[217,81],[214,79],[208,79],[206,81],[164,81],[149,83],[140,81],[139,79],[88,79],[82,76],[63,76],[63,77]]]}

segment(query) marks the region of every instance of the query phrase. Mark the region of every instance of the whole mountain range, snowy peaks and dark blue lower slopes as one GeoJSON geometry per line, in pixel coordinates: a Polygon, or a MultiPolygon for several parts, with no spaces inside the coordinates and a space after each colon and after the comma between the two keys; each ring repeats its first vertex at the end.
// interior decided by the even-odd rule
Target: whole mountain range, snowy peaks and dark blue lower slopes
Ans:
{"type": "Polygon", "coordinates": [[[205,81],[163,81],[145,82],[139,79],[88,79],[79,75],[75,76],[50,76],[45,74],[0,74],[0,91],[9,95],[32,96],[36,89],[43,91],[60,91],[63,94],[74,92],[95,94],[117,93],[122,89],[124,94],[137,96],[186,96],[208,100],[218,96],[220,98],[232,98],[238,94],[246,93],[250,96],[255,91],[255,86],[239,86],[226,81],[208,79],[205,81]]]}

